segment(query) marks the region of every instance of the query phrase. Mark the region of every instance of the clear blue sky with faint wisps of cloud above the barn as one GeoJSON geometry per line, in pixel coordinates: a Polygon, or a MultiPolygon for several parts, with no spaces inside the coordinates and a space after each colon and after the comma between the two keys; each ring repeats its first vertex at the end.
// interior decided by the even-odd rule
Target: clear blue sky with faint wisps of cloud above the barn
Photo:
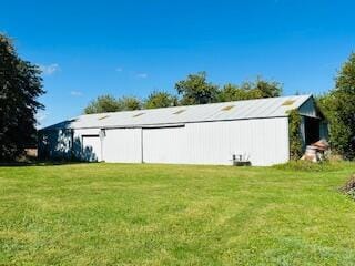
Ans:
{"type": "Polygon", "coordinates": [[[4,1],[0,31],[43,69],[41,125],[100,94],[174,92],[189,73],[217,84],[256,75],[284,94],[322,93],[354,51],[354,1],[4,1]]]}

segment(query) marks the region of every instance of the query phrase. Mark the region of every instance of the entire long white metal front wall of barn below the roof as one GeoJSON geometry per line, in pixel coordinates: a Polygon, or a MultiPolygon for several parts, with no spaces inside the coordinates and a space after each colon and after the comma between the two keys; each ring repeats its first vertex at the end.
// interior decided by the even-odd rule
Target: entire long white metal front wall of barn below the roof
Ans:
{"type": "MultiPolygon", "coordinates": [[[[73,154],[82,156],[82,147],[90,145],[98,161],[105,162],[141,163],[143,158],[145,163],[231,165],[234,153],[248,155],[252,165],[288,161],[287,117],[187,123],[182,127],[106,129],[102,142],[100,131],[75,130],[73,154]],[[87,140],[85,135],[98,139],[87,140]]],[[[54,155],[71,156],[69,133],[51,137],[54,155]]]]}

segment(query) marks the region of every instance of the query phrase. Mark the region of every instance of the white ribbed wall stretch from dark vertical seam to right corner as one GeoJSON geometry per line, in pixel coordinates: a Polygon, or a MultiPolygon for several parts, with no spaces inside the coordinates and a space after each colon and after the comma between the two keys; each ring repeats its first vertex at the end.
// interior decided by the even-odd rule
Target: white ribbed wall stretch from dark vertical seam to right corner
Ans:
{"type": "Polygon", "coordinates": [[[143,130],[143,158],[146,163],[229,165],[234,153],[247,154],[252,165],[287,162],[287,117],[143,130]]]}

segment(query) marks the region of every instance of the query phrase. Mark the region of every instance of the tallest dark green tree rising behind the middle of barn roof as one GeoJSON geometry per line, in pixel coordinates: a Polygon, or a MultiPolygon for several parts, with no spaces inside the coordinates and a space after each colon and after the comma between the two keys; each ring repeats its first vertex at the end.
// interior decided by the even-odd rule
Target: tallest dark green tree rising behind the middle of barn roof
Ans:
{"type": "Polygon", "coordinates": [[[182,105],[212,103],[217,99],[219,88],[207,82],[205,72],[189,74],[175,84],[175,89],[182,96],[182,105]]]}

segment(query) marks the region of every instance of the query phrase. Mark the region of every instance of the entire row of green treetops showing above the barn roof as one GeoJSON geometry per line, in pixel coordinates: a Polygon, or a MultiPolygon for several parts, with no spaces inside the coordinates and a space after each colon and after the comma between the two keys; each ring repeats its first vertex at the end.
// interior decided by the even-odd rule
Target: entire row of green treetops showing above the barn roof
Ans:
{"type": "Polygon", "coordinates": [[[217,85],[207,81],[205,72],[189,74],[185,80],[176,82],[175,89],[180,98],[168,92],[154,91],[143,103],[132,96],[123,96],[116,100],[111,95],[102,95],[92,101],[84,109],[84,113],[118,112],[141,108],[155,109],[272,98],[280,96],[282,93],[282,85],[278,82],[266,81],[260,76],[253,82],[244,82],[241,85],[229,83],[220,89],[217,85]]]}

